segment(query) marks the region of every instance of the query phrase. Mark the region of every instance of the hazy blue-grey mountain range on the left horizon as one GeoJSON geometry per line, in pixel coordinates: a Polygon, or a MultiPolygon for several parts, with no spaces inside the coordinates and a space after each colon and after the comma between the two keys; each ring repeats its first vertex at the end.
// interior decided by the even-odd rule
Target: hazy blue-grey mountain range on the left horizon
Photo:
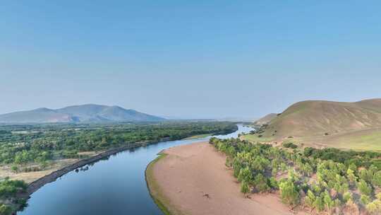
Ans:
{"type": "Polygon", "coordinates": [[[61,109],[38,108],[35,110],[11,112],[0,115],[4,123],[46,123],[46,122],[152,122],[165,120],[136,110],[119,106],[75,105],[61,109]]]}

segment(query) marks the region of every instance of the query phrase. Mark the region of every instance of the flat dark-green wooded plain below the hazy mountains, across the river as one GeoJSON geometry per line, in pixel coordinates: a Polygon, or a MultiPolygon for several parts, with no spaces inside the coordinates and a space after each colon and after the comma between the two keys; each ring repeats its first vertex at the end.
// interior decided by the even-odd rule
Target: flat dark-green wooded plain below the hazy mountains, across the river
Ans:
{"type": "MultiPolygon", "coordinates": [[[[232,122],[162,122],[140,124],[47,124],[0,127],[0,163],[40,163],[81,158],[81,151],[107,150],[125,144],[149,144],[197,134],[234,132],[232,122]]],[[[17,170],[17,166],[13,167],[17,170]]]]}

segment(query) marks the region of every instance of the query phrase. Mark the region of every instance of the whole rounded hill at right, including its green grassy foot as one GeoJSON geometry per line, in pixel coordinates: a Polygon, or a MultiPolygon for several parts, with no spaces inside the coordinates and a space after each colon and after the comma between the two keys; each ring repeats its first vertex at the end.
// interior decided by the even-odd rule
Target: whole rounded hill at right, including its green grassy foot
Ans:
{"type": "Polygon", "coordinates": [[[308,100],[291,105],[267,123],[258,141],[293,141],[343,149],[381,150],[381,99],[341,103],[308,100]]]}

